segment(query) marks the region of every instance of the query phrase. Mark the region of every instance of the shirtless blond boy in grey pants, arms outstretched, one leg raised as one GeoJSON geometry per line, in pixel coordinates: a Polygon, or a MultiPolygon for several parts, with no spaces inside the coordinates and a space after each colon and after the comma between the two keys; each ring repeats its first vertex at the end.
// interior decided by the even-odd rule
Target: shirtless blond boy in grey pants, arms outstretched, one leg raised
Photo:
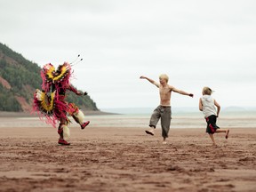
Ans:
{"type": "Polygon", "coordinates": [[[168,84],[169,77],[165,74],[159,76],[159,83],[148,78],[147,76],[140,76],[140,79],[147,79],[151,84],[155,84],[157,88],[159,88],[160,93],[160,105],[154,110],[150,121],[149,130],[146,131],[149,135],[154,135],[154,131],[156,129],[156,124],[161,118],[161,127],[162,127],[162,136],[164,138],[163,144],[166,144],[166,138],[168,138],[168,132],[170,130],[171,119],[172,119],[172,110],[171,110],[171,96],[172,92],[178,92],[182,95],[188,95],[189,97],[193,97],[192,93],[183,92],[174,88],[172,85],[168,84]]]}

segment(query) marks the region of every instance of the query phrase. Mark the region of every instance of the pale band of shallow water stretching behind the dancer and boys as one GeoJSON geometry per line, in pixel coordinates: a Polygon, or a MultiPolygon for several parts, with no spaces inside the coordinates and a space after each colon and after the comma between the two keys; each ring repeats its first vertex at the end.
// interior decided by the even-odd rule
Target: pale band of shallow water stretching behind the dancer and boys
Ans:
{"type": "MultiPolygon", "coordinates": [[[[148,128],[151,114],[123,114],[123,115],[104,115],[104,116],[86,116],[85,120],[91,121],[92,127],[135,127],[148,128]]],[[[69,127],[77,127],[73,122],[69,127]]],[[[217,119],[220,128],[256,128],[256,111],[247,112],[220,112],[217,119]]],[[[38,117],[20,117],[15,119],[1,119],[0,127],[51,127],[38,117]]],[[[161,127],[159,120],[157,127],[161,127]]],[[[172,112],[171,128],[205,128],[206,122],[201,112],[172,112]]]]}

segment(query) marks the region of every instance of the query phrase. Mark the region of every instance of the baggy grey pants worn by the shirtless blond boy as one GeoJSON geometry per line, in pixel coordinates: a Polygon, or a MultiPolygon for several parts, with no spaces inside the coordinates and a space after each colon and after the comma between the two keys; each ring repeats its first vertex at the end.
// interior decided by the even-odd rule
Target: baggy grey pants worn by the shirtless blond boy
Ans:
{"type": "Polygon", "coordinates": [[[168,137],[168,132],[170,130],[171,119],[172,119],[172,110],[171,106],[158,106],[149,121],[149,126],[156,128],[156,124],[161,118],[161,126],[162,126],[162,136],[164,138],[168,137]]]}

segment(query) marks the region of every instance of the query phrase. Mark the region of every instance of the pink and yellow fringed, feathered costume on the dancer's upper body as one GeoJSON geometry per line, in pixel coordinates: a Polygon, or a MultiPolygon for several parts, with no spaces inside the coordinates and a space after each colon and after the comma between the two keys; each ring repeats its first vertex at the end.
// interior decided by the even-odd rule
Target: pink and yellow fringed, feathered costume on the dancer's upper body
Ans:
{"type": "Polygon", "coordinates": [[[42,91],[37,89],[34,94],[33,110],[37,112],[40,119],[45,117],[45,122],[52,124],[53,127],[56,127],[61,118],[69,122],[67,112],[78,110],[75,104],[69,105],[65,101],[65,93],[70,87],[69,80],[72,74],[73,71],[68,62],[64,62],[57,70],[48,63],[41,70],[42,91]]]}

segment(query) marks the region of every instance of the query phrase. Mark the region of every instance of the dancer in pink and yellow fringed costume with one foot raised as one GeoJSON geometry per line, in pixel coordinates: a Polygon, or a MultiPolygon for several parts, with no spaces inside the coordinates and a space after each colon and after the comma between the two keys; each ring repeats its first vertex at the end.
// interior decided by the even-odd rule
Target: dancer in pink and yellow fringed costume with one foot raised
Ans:
{"type": "Polygon", "coordinates": [[[53,127],[59,124],[60,145],[70,145],[67,141],[70,135],[68,115],[80,124],[81,129],[90,124],[90,121],[84,122],[84,113],[74,103],[65,100],[67,90],[75,92],[76,95],[87,95],[87,92],[77,91],[70,84],[71,75],[71,65],[68,62],[64,62],[57,70],[51,63],[44,65],[41,70],[42,91],[36,90],[34,94],[33,108],[40,118],[46,117],[46,123],[52,124],[53,127]]]}

